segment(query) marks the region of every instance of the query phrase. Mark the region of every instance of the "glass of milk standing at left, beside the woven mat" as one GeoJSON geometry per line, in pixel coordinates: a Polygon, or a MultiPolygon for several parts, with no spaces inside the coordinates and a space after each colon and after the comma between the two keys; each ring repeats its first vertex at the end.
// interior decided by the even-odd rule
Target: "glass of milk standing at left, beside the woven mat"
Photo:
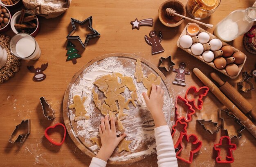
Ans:
{"type": "Polygon", "coordinates": [[[35,38],[27,33],[18,33],[11,38],[11,53],[20,59],[39,59],[41,51],[35,38]]]}

